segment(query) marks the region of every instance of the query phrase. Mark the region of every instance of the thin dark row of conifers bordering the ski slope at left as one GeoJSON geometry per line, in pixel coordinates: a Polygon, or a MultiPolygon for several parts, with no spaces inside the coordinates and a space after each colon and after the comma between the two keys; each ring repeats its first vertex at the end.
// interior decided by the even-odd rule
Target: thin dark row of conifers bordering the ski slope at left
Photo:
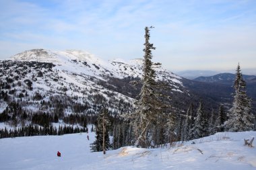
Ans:
{"type": "Polygon", "coordinates": [[[15,138],[20,136],[44,136],[44,135],[63,135],[63,134],[73,134],[79,132],[88,132],[87,127],[78,126],[59,126],[59,128],[50,126],[38,126],[32,125],[23,126],[21,128],[15,128],[13,130],[1,129],[0,138],[15,138]]]}

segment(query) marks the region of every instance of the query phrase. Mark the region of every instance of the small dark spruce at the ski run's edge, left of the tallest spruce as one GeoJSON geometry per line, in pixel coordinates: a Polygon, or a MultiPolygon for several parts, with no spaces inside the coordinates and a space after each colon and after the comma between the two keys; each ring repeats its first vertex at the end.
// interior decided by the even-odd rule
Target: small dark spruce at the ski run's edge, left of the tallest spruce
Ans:
{"type": "Polygon", "coordinates": [[[110,148],[110,140],[108,130],[110,128],[110,121],[108,118],[108,111],[103,108],[97,118],[96,124],[96,140],[91,144],[92,151],[103,151],[106,153],[110,148]]]}

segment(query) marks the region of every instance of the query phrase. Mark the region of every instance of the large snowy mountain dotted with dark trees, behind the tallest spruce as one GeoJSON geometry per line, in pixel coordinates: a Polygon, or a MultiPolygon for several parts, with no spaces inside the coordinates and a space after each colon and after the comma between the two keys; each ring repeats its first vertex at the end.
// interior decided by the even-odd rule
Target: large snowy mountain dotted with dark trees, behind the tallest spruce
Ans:
{"type": "MultiPolygon", "coordinates": [[[[141,59],[104,61],[79,50],[44,49],[28,50],[1,60],[0,114],[4,114],[0,115],[0,122],[11,120],[14,115],[19,124],[22,118],[15,110],[59,117],[94,115],[102,106],[112,114],[131,112],[141,83],[133,86],[130,82],[142,77],[142,63],[141,59]]],[[[173,96],[172,108],[183,110],[187,103],[179,103],[177,99],[189,99],[190,94],[181,82],[182,77],[159,66],[155,69],[158,81],[171,87],[166,93],[173,96]]]]}

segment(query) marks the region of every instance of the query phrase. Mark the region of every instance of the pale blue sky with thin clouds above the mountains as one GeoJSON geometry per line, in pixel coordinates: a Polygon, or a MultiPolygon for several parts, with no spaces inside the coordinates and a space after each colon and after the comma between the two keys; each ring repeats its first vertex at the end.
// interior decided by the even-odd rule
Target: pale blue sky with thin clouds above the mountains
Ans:
{"type": "Polygon", "coordinates": [[[0,59],[30,50],[77,49],[105,60],[154,60],[170,71],[256,68],[255,0],[0,0],[0,59]]]}

